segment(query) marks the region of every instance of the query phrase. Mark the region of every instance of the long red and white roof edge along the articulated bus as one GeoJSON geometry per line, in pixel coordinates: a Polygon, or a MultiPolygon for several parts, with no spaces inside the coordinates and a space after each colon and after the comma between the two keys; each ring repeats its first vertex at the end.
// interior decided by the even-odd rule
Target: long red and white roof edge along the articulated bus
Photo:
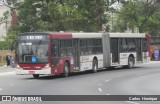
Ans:
{"type": "Polygon", "coordinates": [[[101,38],[103,34],[109,34],[109,37],[115,38],[145,38],[145,33],[67,33],[67,32],[26,32],[20,35],[50,35],[50,38],[101,38]]]}

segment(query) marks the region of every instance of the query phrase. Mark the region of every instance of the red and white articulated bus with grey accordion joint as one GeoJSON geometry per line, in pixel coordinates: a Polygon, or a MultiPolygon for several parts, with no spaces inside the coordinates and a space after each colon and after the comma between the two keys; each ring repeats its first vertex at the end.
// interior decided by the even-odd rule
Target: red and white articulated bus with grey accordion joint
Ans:
{"type": "MultiPolygon", "coordinates": [[[[13,45],[14,44],[14,45],[13,45]]],[[[144,33],[28,32],[18,35],[15,49],[16,74],[62,74],[149,61],[149,36],[144,33]]]]}

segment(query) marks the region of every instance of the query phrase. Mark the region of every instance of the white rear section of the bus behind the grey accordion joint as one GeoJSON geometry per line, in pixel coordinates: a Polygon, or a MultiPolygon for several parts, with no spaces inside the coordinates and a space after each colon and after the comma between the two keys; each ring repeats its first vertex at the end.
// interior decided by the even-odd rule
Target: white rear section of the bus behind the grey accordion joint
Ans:
{"type": "Polygon", "coordinates": [[[110,33],[111,66],[133,68],[149,62],[148,44],[144,33],[110,33]]]}

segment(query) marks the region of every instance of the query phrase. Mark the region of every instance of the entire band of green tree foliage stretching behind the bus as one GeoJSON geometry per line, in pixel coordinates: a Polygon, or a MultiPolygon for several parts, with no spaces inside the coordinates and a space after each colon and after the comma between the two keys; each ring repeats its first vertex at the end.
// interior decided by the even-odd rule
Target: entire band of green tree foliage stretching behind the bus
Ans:
{"type": "MultiPolygon", "coordinates": [[[[17,0],[7,1],[17,4],[17,0]]],[[[17,27],[10,28],[8,33],[16,36],[35,31],[98,32],[102,25],[107,31],[112,25],[113,32],[127,29],[134,32],[138,28],[139,32],[158,34],[159,3],[158,0],[24,0],[16,8],[17,27]],[[110,8],[117,1],[121,9],[110,8]],[[113,16],[106,12],[112,12],[113,16]]]]}

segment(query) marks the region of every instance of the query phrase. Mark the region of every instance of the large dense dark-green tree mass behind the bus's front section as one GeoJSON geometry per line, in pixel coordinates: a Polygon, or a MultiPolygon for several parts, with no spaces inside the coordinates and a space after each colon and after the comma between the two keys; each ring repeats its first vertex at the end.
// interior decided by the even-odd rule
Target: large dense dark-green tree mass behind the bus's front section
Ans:
{"type": "Polygon", "coordinates": [[[100,31],[106,7],[105,0],[24,0],[17,9],[20,32],[100,31]]]}

